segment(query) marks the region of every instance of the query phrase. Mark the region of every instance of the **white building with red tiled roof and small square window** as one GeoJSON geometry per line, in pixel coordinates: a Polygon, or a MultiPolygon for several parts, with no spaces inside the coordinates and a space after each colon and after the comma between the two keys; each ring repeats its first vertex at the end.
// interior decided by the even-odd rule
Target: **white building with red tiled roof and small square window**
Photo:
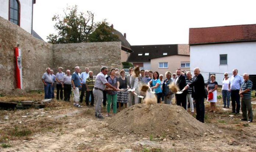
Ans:
{"type": "Polygon", "coordinates": [[[223,74],[235,68],[256,79],[256,24],[191,28],[189,45],[190,69],[199,67],[206,81],[212,73],[221,85],[223,74]]]}

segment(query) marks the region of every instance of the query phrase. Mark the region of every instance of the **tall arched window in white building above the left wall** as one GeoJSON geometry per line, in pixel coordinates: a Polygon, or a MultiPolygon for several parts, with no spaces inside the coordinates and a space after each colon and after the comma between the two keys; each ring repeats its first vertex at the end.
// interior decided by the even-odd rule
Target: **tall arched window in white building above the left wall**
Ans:
{"type": "Polygon", "coordinates": [[[10,3],[9,21],[19,26],[20,3],[18,0],[10,0],[9,3],[10,3]]]}

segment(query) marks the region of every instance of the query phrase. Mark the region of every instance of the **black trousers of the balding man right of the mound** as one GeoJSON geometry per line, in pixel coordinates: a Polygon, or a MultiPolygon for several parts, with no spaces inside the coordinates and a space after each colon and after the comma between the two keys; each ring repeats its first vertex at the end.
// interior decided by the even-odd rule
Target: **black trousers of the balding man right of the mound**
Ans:
{"type": "Polygon", "coordinates": [[[196,103],[196,119],[202,123],[205,122],[205,98],[194,98],[196,103]]]}

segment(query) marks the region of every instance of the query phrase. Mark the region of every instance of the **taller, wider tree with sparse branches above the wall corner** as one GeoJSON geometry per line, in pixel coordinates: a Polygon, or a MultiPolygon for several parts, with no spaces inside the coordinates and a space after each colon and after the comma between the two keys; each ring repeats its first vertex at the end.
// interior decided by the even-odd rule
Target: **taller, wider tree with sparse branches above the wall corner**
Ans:
{"type": "Polygon", "coordinates": [[[89,35],[95,29],[94,14],[90,11],[86,14],[78,12],[77,5],[67,7],[63,12],[64,17],[53,16],[52,21],[56,21],[54,29],[58,34],[49,34],[48,42],[52,44],[88,42],[89,35]]]}

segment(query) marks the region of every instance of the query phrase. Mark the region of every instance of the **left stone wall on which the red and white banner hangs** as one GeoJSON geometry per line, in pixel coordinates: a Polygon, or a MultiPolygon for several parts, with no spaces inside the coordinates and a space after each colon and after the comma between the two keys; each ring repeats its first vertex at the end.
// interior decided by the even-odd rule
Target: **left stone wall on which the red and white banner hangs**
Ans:
{"type": "Polygon", "coordinates": [[[52,65],[52,44],[41,41],[0,17],[0,93],[16,88],[14,47],[22,51],[24,90],[42,89],[42,74],[52,65]]]}

